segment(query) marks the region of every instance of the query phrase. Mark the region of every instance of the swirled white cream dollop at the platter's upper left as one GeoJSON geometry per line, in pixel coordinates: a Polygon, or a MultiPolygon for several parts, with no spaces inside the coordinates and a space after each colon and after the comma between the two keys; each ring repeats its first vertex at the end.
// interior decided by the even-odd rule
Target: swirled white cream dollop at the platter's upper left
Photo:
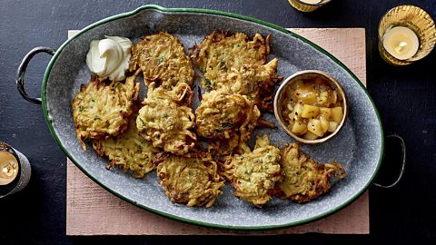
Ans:
{"type": "Polygon", "coordinates": [[[105,37],[91,42],[86,64],[100,79],[109,77],[111,81],[122,81],[125,78],[124,71],[129,67],[132,42],[120,36],[105,37]]]}

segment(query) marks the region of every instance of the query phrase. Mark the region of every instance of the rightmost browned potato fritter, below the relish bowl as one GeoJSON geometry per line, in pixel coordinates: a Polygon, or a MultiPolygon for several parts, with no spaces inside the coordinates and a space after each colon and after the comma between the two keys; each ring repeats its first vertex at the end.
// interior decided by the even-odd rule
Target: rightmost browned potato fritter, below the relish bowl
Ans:
{"type": "Polygon", "coordinates": [[[284,180],[278,187],[279,196],[299,203],[312,201],[330,190],[330,177],[345,177],[345,170],[337,162],[318,164],[304,154],[297,143],[282,150],[284,180]]]}

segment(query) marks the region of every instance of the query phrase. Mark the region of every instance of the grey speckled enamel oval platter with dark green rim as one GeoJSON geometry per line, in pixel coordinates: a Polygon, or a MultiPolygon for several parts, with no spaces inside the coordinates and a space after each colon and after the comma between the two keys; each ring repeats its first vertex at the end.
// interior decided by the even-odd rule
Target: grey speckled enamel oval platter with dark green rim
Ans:
{"type": "MultiPolygon", "coordinates": [[[[198,84],[198,81],[195,82],[198,84]]],[[[144,84],[143,84],[144,86],[144,84]]],[[[42,85],[45,120],[55,141],[65,154],[91,179],[107,191],[147,211],[197,225],[233,230],[266,230],[300,225],[319,220],[357,199],[377,173],[383,151],[383,132],[372,99],[358,78],[331,54],[286,29],[251,17],[214,10],[163,8],[144,5],[132,12],[101,20],[85,27],[66,41],[54,54],[45,71],[42,85]],[[278,74],[287,77],[306,69],[331,73],[349,96],[350,113],[342,131],[331,141],[303,146],[318,162],[341,162],[347,176],[333,181],[332,190],[305,204],[273,199],[263,209],[235,198],[226,185],[223,196],[212,208],[188,208],[174,204],[163,194],[155,172],[134,179],[123,171],[107,171],[107,160],[97,157],[92,147],[83,152],[74,133],[71,103],[81,83],[88,83],[90,72],[85,63],[92,40],[104,35],[125,36],[137,42],[145,34],[159,31],[178,36],[185,47],[200,44],[215,29],[243,32],[253,36],[271,34],[272,54],[279,58],[278,74]]],[[[267,119],[273,120],[272,114],[267,119]]],[[[274,120],[275,122],[275,120],[274,120]]],[[[273,144],[282,147],[294,142],[279,129],[266,132],[273,144]]]]}

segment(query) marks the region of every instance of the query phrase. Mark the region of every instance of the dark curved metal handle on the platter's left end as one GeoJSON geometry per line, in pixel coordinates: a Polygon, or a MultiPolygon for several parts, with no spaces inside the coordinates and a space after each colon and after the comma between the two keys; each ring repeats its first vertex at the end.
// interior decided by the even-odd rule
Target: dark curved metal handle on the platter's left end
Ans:
{"type": "Polygon", "coordinates": [[[26,101],[31,103],[41,104],[41,98],[32,98],[25,92],[25,70],[27,69],[27,64],[29,64],[30,60],[38,53],[46,53],[54,55],[56,51],[49,47],[35,47],[29,53],[25,54],[25,58],[21,62],[20,66],[18,66],[18,70],[16,71],[16,88],[18,92],[21,94],[26,101]]]}

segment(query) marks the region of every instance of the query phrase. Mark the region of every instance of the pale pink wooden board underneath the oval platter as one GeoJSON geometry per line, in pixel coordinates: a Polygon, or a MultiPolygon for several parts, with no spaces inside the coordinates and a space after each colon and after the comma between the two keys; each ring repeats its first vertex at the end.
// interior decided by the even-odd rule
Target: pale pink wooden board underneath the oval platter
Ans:
{"type": "MultiPolygon", "coordinates": [[[[290,30],[322,46],[366,84],[365,29],[290,30]]],[[[68,37],[76,32],[69,31],[68,37]]],[[[342,211],[302,226],[263,231],[217,230],[170,220],[144,211],[105,191],[69,160],[66,166],[66,235],[275,235],[370,232],[368,191],[342,211]]]]}

